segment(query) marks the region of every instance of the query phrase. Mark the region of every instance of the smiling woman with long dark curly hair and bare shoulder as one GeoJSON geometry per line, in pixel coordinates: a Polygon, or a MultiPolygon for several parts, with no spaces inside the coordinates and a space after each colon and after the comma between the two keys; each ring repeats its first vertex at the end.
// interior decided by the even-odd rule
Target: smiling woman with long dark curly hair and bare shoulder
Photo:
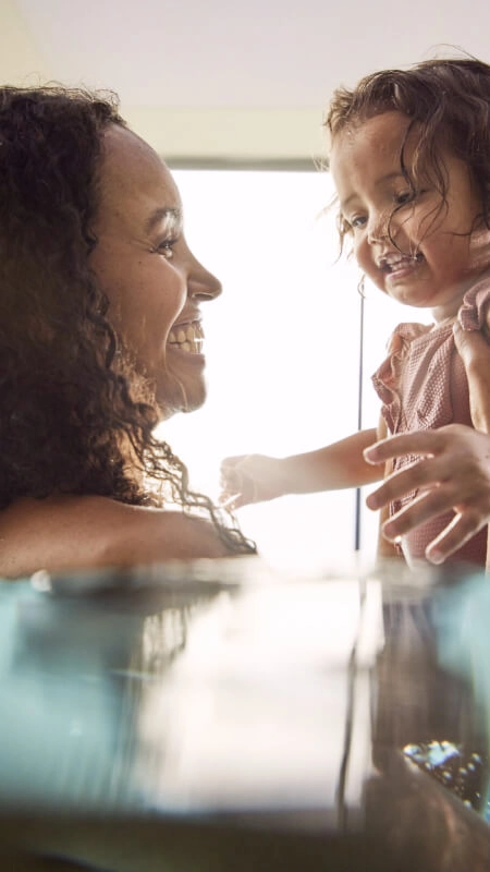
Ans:
{"type": "Polygon", "coordinates": [[[255,550],[154,436],[220,292],[115,97],[0,89],[1,577],[255,550]]]}

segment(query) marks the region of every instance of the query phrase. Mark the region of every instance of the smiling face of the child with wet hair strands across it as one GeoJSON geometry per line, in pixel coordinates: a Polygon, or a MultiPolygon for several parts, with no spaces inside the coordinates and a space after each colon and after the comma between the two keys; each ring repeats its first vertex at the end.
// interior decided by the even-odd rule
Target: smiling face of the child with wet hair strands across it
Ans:
{"type": "MultiPolygon", "coordinates": [[[[384,112],[343,131],[330,168],[363,271],[393,299],[429,307],[442,320],[456,314],[465,291],[490,266],[490,232],[470,232],[481,207],[468,167],[449,153],[441,156],[446,206],[438,211],[433,184],[415,181],[415,198],[394,213],[411,196],[400,157],[408,123],[401,112],[384,112]]],[[[408,171],[415,143],[416,131],[404,150],[408,171]]]]}

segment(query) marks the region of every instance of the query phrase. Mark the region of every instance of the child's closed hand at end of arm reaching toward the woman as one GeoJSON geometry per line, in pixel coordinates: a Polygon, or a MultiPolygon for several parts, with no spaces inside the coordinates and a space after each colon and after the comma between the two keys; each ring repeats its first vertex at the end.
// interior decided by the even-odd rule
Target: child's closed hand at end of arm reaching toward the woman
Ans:
{"type": "Polygon", "coordinates": [[[220,502],[240,509],[284,494],[283,461],[265,455],[228,457],[221,463],[220,502]]]}

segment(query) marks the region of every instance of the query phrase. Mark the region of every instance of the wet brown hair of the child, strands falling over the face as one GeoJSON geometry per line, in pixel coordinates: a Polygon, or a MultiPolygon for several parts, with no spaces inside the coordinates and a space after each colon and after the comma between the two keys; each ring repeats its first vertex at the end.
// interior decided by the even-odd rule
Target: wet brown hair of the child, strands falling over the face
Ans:
{"type": "MultiPolygon", "coordinates": [[[[407,70],[372,73],[352,90],[340,87],[333,93],[324,120],[330,142],[343,131],[391,111],[409,119],[400,166],[412,197],[420,182],[428,181],[441,196],[432,221],[448,207],[443,153],[450,152],[468,166],[481,204],[477,220],[489,228],[490,66],[469,57],[433,59],[407,70]],[[412,144],[415,141],[409,167],[405,159],[408,137],[412,144]]],[[[405,205],[395,207],[393,214],[405,205]]],[[[341,216],[339,232],[342,245],[350,227],[341,216]]]]}

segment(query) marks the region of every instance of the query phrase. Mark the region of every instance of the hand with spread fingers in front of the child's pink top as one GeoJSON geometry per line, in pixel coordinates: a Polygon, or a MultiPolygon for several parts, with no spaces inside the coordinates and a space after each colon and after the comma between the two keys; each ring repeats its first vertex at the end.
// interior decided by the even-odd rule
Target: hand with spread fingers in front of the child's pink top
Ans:
{"type": "Polygon", "coordinates": [[[381,509],[418,489],[420,495],[382,526],[391,542],[453,509],[456,514],[430,543],[426,557],[442,564],[490,521],[490,436],[463,424],[392,436],[364,452],[368,463],[418,455],[414,465],[393,473],[366,500],[381,509]]]}

